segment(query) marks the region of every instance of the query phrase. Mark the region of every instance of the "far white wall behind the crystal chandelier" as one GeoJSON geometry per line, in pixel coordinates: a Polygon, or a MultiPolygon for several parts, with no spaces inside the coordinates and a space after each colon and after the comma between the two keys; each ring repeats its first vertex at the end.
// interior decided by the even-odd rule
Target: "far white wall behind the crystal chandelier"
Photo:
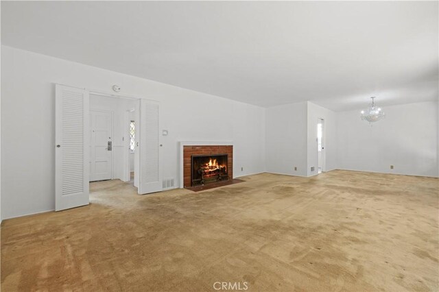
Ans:
{"type": "Polygon", "coordinates": [[[372,126],[359,110],[337,113],[337,168],[437,177],[438,103],[383,110],[387,117],[372,126]]]}

